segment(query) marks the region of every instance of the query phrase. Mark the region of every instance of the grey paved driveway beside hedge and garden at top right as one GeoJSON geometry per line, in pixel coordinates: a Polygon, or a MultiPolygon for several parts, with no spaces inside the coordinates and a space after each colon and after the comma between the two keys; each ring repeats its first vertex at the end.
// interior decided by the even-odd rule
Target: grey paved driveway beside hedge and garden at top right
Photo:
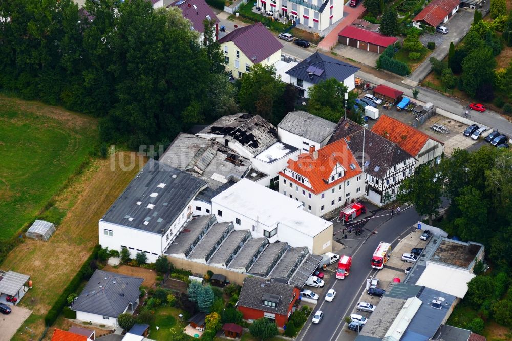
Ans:
{"type": "MultiPolygon", "coordinates": [[[[485,6],[489,6],[488,2],[485,3],[485,6]]],[[[483,12],[485,15],[487,12],[483,12]]],[[[475,10],[459,7],[457,13],[448,20],[446,24],[442,24],[448,28],[447,34],[437,33],[434,35],[430,35],[428,33],[423,34],[420,37],[420,41],[424,46],[429,41],[433,41],[436,43],[436,48],[430,55],[430,57],[434,57],[438,60],[444,59],[448,54],[448,49],[450,48],[450,42],[453,41],[455,45],[466,35],[467,31],[470,30],[471,24],[473,23],[473,15],[475,14],[475,10]]],[[[429,59],[430,59],[429,57],[429,59]]],[[[417,68],[414,70],[407,79],[404,79],[402,83],[408,84],[412,87],[417,86],[419,82],[421,82],[425,77],[430,73],[432,69],[432,65],[430,64],[429,59],[425,59],[417,68]]]]}

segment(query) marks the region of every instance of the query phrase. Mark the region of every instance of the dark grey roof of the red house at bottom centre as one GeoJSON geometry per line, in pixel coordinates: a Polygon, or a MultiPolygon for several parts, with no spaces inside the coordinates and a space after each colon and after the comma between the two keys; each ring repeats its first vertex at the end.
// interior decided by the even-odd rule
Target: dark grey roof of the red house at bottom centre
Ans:
{"type": "Polygon", "coordinates": [[[276,281],[269,281],[259,277],[247,277],[240,291],[238,305],[261,311],[271,312],[280,315],[288,314],[288,306],[293,299],[293,286],[276,281]],[[267,299],[278,296],[279,302],[277,307],[269,307],[263,305],[263,297],[267,299]]]}

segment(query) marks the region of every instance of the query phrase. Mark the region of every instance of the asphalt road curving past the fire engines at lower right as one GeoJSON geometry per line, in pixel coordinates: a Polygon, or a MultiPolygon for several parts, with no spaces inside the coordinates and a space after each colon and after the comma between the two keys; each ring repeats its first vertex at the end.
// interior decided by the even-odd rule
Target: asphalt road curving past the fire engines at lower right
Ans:
{"type": "Polygon", "coordinates": [[[335,276],[331,276],[315,308],[315,311],[324,312],[322,322],[313,325],[310,317],[297,336],[297,341],[341,341],[355,338],[355,333],[344,331],[346,323],[343,318],[352,313],[361,293],[365,290],[366,279],[377,272],[370,267],[373,252],[380,241],[393,241],[394,247],[400,238],[411,231],[411,226],[420,218],[414,207],[402,210],[399,216],[392,219],[389,215],[383,215],[386,213],[389,212],[377,213],[377,218],[370,219],[365,225],[366,236],[374,229],[377,229],[376,235],[370,236],[365,242],[361,239],[359,244],[342,251],[343,254],[347,252],[352,256],[350,276],[345,280],[336,280],[335,276]],[[333,302],[323,301],[325,292],[331,288],[336,290],[336,298],[333,302]]]}

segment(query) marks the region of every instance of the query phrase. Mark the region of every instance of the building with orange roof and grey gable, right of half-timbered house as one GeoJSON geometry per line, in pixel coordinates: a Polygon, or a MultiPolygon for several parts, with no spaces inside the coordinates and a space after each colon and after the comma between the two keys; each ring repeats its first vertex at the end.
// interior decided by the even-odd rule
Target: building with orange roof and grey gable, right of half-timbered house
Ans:
{"type": "Polygon", "coordinates": [[[444,143],[387,115],[381,115],[372,132],[398,144],[416,158],[416,167],[425,163],[439,163],[444,153],[444,143]]]}

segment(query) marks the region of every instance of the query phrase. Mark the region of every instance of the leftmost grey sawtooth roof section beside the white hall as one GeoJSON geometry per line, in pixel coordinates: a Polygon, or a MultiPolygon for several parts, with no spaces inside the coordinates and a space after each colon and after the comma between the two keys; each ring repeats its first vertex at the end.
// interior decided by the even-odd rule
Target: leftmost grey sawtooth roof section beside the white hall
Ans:
{"type": "Polygon", "coordinates": [[[198,237],[210,229],[217,222],[214,215],[200,216],[192,219],[186,225],[183,231],[170,244],[166,254],[184,253],[198,237]]]}

